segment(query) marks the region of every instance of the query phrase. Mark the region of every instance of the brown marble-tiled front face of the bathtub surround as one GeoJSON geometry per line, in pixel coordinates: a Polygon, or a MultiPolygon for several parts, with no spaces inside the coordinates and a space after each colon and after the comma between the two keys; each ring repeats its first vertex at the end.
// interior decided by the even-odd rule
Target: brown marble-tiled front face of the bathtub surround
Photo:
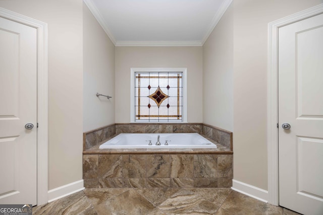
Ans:
{"type": "Polygon", "coordinates": [[[233,155],[174,151],[83,153],[86,188],[231,187],[233,155]]]}

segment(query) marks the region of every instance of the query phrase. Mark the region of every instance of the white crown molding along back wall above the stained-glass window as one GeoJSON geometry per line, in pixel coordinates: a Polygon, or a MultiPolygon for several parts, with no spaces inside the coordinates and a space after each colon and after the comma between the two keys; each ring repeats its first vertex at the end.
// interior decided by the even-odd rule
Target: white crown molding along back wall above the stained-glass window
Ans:
{"type": "Polygon", "coordinates": [[[116,46],[202,46],[200,41],[117,41],[116,46]]]}

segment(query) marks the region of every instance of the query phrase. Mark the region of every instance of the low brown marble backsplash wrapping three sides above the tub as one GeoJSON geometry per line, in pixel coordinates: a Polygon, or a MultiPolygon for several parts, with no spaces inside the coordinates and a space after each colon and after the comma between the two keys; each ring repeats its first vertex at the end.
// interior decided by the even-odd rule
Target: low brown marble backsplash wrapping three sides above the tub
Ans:
{"type": "Polygon", "coordinates": [[[112,124],[83,133],[83,150],[119,133],[199,133],[233,150],[232,132],[202,123],[125,123],[112,124]]]}

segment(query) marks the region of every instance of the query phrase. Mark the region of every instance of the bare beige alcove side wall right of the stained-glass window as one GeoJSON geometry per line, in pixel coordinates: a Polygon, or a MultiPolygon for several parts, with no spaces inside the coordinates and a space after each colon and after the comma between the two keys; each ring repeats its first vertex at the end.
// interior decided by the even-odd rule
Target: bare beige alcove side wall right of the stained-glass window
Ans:
{"type": "Polygon", "coordinates": [[[203,45],[203,123],[233,131],[233,4],[203,45]]]}

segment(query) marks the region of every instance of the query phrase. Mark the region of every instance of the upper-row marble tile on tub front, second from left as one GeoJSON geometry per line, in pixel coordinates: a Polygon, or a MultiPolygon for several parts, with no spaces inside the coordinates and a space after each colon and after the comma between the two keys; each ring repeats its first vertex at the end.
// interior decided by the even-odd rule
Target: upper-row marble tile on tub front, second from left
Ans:
{"type": "Polygon", "coordinates": [[[99,155],[98,178],[121,178],[122,155],[99,155]]]}

